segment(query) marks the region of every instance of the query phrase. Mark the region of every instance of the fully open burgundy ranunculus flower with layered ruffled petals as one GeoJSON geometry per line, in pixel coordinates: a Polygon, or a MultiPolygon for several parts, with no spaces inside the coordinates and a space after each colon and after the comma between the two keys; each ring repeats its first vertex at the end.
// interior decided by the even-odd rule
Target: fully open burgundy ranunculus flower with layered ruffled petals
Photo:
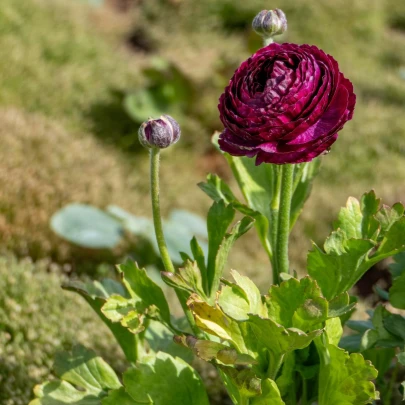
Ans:
{"type": "Polygon", "coordinates": [[[243,62],[219,99],[220,148],[256,164],[309,162],[336,141],[356,96],[315,46],[270,44],[243,62]]]}

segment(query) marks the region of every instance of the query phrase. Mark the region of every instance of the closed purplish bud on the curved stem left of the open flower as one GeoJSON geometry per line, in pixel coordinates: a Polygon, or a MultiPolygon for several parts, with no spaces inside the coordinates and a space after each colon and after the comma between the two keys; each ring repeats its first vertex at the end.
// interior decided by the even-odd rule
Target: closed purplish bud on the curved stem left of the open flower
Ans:
{"type": "Polygon", "coordinates": [[[145,121],[139,128],[138,136],[145,148],[164,149],[179,140],[180,126],[170,115],[161,115],[159,119],[145,121]]]}

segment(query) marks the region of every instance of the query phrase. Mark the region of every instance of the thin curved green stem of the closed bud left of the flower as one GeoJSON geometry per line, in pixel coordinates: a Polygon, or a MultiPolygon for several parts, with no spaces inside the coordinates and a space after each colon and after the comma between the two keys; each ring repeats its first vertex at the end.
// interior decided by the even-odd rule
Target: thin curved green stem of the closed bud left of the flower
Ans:
{"type": "MultiPolygon", "coordinates": [[[[153,212],[153,225],[155,227],[156,240],[158,243],[160,256],[162,258],[163,266],[166,271],[175,273],[176,270],[173,266],[172,259],[170,258],[167,249],[165,236],[163,233],[162,217],[160,214],[160,196],[159,196],[159,166],[160,166],[160,150],[152,148],[150,151],[150,185],[151,185],[151,198],[152,198],[152,212],[153,212]]],[[[181,292],[176,291],[177,298],[186,315],[188,323],[190,324],[193,333],[197,336],[200,335],[193,314],[187,307],[187,297],[181,292]]]]}

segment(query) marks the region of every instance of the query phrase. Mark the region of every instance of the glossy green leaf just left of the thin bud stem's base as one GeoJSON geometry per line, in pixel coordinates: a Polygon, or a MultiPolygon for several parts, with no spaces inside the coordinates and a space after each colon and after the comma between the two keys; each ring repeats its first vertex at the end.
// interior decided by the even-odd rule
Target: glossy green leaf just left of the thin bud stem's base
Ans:
{"type": "Polygon", "coordinates": [[[148,277],[146,270],[140,269],[135,262],[129,260],[117,268],[131,297],[142,301],[144,307],[155,306],[162,320],[170,325],[170,310],[166,297],[162,289],[148,277]]]}

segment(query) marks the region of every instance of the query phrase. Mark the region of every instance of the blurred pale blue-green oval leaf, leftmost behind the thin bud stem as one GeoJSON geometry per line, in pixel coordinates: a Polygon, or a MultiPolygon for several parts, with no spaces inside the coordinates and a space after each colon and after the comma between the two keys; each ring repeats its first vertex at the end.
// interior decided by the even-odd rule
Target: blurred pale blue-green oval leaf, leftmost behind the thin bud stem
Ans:
{"type": "Polygon", "coordinates": [[[112,249],[123,236],[119,221],[86,204],[69,204],[51,218],[51,228],[60,237],[90,249],[112,249]]]}

